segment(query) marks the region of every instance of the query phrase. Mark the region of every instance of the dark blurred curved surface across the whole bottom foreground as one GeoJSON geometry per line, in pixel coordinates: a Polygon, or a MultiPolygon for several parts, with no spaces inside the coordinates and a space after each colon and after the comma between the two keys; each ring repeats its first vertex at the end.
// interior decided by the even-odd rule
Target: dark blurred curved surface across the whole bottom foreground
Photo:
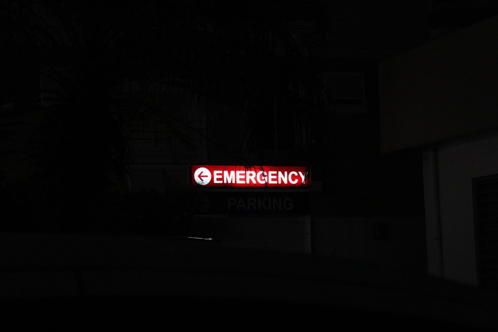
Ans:
{"type": "Polygon", "coordinates": [[[361,262],[164,236],[0,238],[17,327],[498,331],[496,294],[361,262]]]}

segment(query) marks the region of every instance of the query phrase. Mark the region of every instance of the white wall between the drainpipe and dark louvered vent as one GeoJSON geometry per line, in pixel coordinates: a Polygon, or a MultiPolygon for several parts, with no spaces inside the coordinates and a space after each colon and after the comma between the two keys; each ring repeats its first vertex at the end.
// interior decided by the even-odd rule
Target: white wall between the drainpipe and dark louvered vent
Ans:
{"type": "Polygon", "coordinates": [[[498,132],[440,144],[437,153],[443,277],[476,285],[472,179],[498,174],[498,132]]]}

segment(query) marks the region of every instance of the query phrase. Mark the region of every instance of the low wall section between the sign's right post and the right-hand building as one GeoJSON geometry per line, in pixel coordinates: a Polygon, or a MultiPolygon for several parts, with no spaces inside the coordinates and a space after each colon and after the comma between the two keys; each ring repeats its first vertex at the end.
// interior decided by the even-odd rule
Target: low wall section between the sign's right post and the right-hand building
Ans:
{"type": "Polygon", "coordinates": [[[312,253],[427,271],[423,217],[315,217],[312,253]]]}

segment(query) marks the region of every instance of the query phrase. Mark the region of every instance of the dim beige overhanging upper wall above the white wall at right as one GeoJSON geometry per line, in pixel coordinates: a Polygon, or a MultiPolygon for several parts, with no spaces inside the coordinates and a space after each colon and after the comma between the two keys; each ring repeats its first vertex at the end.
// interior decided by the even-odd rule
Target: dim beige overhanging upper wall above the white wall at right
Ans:
{"type": "Polygon", "coordinates": [[[495,16],[379,64],[383,152],[497,128],[497,36],[495,16]]]}

